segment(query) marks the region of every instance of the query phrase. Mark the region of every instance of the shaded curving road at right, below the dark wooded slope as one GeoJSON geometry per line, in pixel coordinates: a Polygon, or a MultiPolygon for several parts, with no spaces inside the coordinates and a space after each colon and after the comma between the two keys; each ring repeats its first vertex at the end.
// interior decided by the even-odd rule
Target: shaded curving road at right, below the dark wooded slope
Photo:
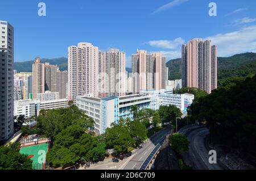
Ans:
{"type": "Polygon", "coordinates": [[[209,134],[207,128],[196,128],[187,133],[189,144],[188,153],[183,153],[182,157],[187,165],[196,170],[221,170],[223,169],[218,162],[209,163],[209,151],[205,148],[205,137],[209,134]]]}

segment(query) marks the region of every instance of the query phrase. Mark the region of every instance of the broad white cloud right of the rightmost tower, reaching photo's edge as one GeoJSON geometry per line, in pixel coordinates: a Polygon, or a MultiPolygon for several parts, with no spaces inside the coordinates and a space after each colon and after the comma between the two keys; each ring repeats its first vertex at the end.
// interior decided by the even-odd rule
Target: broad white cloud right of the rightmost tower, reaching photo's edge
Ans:
{"type": "Polygon", "coordinates": [[[220,33],[205,39],[212,40],[218,47],[218,56],[227,57],[237,53],[256,52],[256,26],[241,28],[238,31],[220,33]]]}

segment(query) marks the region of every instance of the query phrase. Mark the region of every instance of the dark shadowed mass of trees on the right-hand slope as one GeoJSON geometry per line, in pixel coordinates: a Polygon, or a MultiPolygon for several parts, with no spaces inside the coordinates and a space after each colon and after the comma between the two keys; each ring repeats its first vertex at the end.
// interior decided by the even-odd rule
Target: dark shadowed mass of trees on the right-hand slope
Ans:
{"type": "Polygon", "coordinates": [[[250,151],[256,155],[256,76],[192,104],[188,111],[195,121],[206,123],[214,142],[250,151]]]}

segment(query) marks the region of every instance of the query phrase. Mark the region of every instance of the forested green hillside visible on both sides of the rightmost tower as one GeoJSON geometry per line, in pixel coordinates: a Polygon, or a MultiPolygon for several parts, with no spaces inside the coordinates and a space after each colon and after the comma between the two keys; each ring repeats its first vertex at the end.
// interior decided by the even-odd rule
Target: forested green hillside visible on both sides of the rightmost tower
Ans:
{"type": "MultiPolygon", "coordinates": [[[[181,79],[181,58],[167,62],[168,78],[181,79]]],[[[246,77],[256,73],[256,53],[241,53],[231,57],[218,57],[219,85],[230,77],[246,77]]]]}

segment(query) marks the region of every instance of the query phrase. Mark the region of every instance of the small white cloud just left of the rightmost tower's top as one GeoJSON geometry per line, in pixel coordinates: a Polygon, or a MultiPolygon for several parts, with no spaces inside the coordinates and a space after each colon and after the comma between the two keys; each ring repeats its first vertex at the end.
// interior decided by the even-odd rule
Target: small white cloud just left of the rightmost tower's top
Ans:
{"type": "Polygon", "coordinates": [[[179,47],[185,42],[185,40],[181,37],[178,37],[175,40],[154,40],[154,41],[148,41],[148,44],[151,47],[158,47],[158,48],[166,48],[166,49],[174,49],[179,47]]]}

